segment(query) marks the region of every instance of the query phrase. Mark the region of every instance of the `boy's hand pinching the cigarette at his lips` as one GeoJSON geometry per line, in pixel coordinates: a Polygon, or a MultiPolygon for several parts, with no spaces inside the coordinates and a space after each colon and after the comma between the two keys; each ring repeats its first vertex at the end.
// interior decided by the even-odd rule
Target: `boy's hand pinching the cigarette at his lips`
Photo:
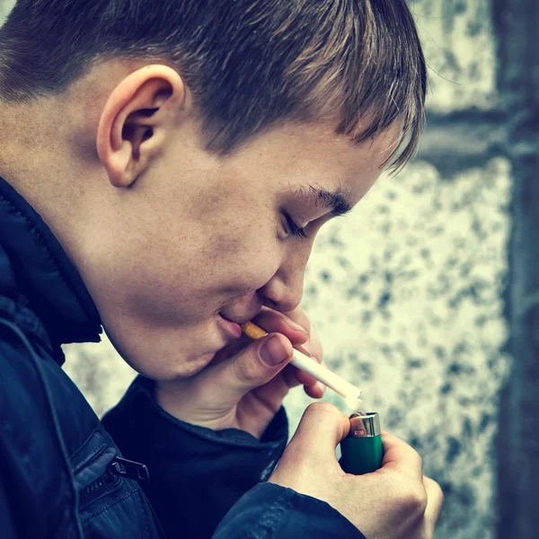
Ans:
{"type": "Polygon", "coordinates": [[[291,387],[303,384],[311,397],[322,397],[323,384],[288,365],[293,346],[322,361],[322,346],[304,311],[264,308],[253,322],[270,334],[254,341],[243,336],[197,375],[157,384],[163,409],[195,425],[242,429],[260,438],[291,387]]]}

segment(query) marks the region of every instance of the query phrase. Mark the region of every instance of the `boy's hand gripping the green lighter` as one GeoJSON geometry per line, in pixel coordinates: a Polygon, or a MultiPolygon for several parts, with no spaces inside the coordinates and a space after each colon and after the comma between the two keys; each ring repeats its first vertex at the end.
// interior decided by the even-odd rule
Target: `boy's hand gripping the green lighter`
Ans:
{"type": "Polygon", "coordinates": [[[349,419],[334,406],[312,404],[269,481],[326,501],[367,539],[431,539],[444,495],[423,475],[420,455],[383,433],[382,467],[344,473],[335,447],[348,430],[349,419]]]}

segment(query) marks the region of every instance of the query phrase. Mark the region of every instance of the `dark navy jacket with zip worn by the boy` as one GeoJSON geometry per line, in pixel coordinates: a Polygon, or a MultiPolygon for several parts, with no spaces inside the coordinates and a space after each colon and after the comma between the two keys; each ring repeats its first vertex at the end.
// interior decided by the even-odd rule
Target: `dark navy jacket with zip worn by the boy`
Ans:
{"type": "Polygon", "coordinates": [[[0,178],[0,536],[363,537],[328,504],[264,482],[286,445],[282,409],[261,440],[204,429],[138,376],[101,422],[60,348],[100,332],[75,266],[0,178]]]}

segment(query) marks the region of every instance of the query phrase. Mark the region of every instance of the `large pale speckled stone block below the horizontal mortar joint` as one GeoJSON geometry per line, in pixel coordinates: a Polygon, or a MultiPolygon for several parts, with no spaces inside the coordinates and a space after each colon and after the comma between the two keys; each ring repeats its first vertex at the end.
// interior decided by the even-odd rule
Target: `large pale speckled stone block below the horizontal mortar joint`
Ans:
{"type": "MultiPolygon", "coordinates": [[[[328,365],[446,492],[441,538],[487,538],[494,526],[509,187],[505,159],[452,175],[425,156],[331,224],[308,269],[305,308],[328,365]]],[[[294,420],[307,402],[289,398],[294,420]]]]}

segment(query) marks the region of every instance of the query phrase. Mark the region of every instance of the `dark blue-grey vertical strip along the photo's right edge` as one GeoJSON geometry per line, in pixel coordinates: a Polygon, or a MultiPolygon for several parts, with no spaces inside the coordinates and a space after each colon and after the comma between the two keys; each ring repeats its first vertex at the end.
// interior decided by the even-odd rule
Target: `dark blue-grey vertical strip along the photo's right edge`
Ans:
{"type": "Polygon", "coordinates": [[[539,57],[536,0],[493,0],[513,165],[506,313],[515,358],[499,415],[499,537],[536,537],[539,498],[539,57]]]}

